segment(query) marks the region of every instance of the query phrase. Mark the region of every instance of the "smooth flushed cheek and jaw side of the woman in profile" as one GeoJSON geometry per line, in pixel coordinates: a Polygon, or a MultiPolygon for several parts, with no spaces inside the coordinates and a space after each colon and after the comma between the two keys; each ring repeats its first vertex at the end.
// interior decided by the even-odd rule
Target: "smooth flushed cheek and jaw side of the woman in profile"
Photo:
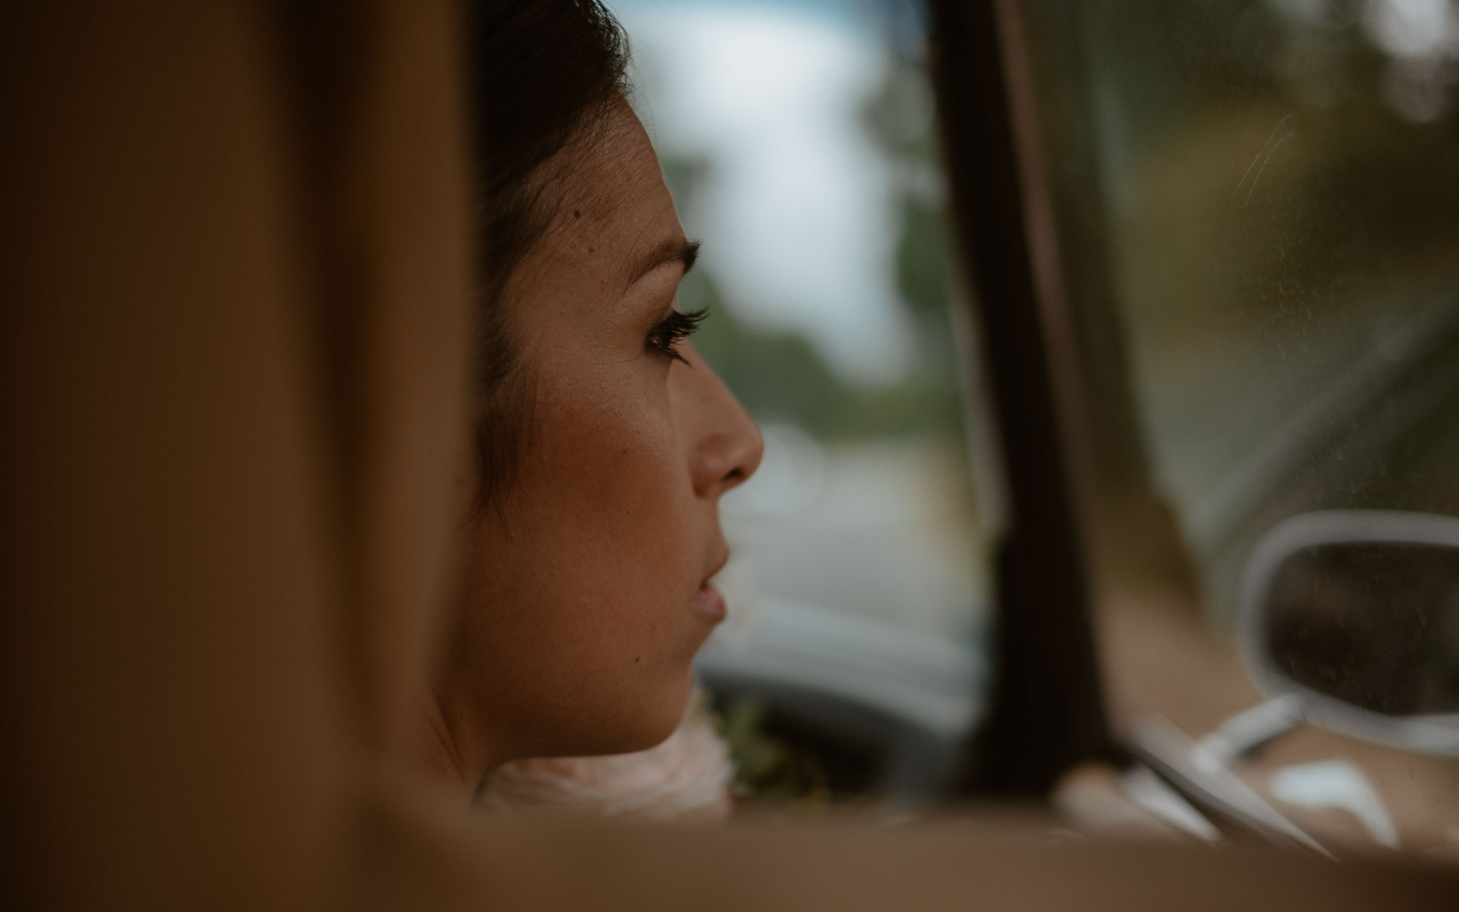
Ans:
{"type": "Polygon", "coordinates": [[[677,719],[706,633],[690,600],[709,528],[667,406],[608,391],[543,391],[552,422],[480,544],[492,557],[477,565],[468,658],[493,668],[493,699],[519,695],[505,708],[514,728],[597,731],[587,746],[648,733],[651,744],[677,719]]]}

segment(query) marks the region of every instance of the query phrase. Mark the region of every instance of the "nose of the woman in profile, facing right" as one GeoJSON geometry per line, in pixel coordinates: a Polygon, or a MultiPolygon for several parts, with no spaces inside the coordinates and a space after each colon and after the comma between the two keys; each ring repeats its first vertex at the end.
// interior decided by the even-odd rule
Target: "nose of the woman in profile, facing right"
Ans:
{"type": "Polygon", "coordinates": [[[689,444],[694,493],[718,499],[760,467],[765,438],[724,381],[692,346],[681,349],[687,365],[674,365],[676,423],[689,444]]]}

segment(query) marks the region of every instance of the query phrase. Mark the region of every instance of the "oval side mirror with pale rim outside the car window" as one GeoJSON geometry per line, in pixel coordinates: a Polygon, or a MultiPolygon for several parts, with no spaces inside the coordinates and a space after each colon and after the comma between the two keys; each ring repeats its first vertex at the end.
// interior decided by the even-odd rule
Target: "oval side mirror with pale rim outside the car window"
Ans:
{"type": "Polygon", "coordinates": [[[1239,632],[1252,680],[1326,728],[1459,756],[1459,519],[1301,514],[1252,552],[1239,632]]]}

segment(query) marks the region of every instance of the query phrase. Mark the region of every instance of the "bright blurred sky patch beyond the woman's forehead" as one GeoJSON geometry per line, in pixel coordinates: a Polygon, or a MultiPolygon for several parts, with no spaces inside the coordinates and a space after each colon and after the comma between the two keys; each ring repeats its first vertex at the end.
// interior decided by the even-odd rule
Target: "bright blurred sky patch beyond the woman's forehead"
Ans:
{"type": "Polygon", "coordinates": [[[886,77],[858,0],[610,0],[665,156],[709,163],[690,232],[735,315],[804,333],[849,379],[912,358],[897,301],[891,169],[859,111],[886,77]]]}

